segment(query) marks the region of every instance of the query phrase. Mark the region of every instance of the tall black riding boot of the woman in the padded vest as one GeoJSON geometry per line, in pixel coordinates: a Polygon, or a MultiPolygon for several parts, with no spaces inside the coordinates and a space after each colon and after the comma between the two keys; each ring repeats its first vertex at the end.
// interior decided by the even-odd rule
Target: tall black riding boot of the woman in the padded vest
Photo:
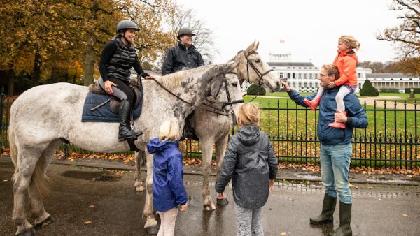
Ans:
{"type": "Polygon", "coordinates": [[[122,100],[120,103],[120,109],[118,110],[118,115],[120,116],[120,129],[118,132],[118,141],[122,142],[129,139],[137,139],[139,135],[142,135],[143,132],[136,132],[132,130],[130,126],[130,112],[131,104],[127,100],[122,100]]]}

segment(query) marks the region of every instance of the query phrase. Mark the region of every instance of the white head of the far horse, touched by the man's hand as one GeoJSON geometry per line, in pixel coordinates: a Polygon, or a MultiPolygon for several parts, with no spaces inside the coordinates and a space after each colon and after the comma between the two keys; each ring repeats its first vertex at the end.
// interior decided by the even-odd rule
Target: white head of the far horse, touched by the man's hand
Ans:
{"type": "Polygon", "coordinates": [[[237,66],[239,80],[260,85],[270,92],[279,91],[280,80],[276,78],[273,69],[258,54],[259,44],[254,41],[246,50],[239,51],[234,58],[239,63],[237,66]]]}

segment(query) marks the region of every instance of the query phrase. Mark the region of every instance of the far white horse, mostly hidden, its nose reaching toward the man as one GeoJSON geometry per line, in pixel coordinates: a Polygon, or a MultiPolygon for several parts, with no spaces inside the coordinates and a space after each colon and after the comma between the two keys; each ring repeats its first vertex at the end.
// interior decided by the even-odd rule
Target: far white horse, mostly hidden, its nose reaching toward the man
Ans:
{"type": "MultiPolygon", "coordinates": [[[[237,64],[236,73],[239,81],[242,83],[248,81],[254,84],[259,84],[265,87],[268,91],[279,91],[280,80],[276,78],[276,74],[272,72],[272,68],[265,63],[260,54],[258,54],[258,43],[251,43],[246,50],[242,50],[230,60],[237,64]]],[[[214,99],[209,98],[204,103],[216,106],[219,110],[222,109],[223,104],[209,103],[214,99]]],[[[209,110],[208,105],[200,105],[200,108],[209,110]]],[[[211,110],[211,109],[210,109],[211,110]]],[[[225,156],[226,147],[228,146],[228,135],[232,128],[232,119],[223,115],[217,115],[214,112],[206,110],[195,110],[194,116],[191,118],[191,126],[195,129],[197,137],[200,138],[200,147],[202,151],[202,173],[203,173],[203,207],[207,211],[216,209],[209,191],[209,177],[211,173],[211,159],[213,156],[213,146],[216,144],[216,172],[217,178],[220,174],[223,164],[223,157],[225,156]],[[205,122],[202,122],[204,121],[205,122]]],[[[135,154],[136,172],[134,187],[136,191],[143,191],[140,177],[140,167],[143,163],[143,153],[137,152],[135,154]]]]}

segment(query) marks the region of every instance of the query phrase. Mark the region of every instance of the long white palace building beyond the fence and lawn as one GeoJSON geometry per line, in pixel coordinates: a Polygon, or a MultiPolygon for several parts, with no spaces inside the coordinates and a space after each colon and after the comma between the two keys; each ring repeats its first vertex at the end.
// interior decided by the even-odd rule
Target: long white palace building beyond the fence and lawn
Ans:
{"type": "MultiPolygon", "coordinates": [[[[332,62],[332,61],[331,61],[332,62]]],[[[319,87],[318,74],[320,66],[314,66],[312,62],[293,62],[292,54],[274,54],[269,52],[267,64],[271,66],[274,73],[281,79],[286,80],[290,88],[300,92],[314,92],[319,87]]],[[[419,88],[420,78],[402,73],[372,73],[370,68],[357,67],[359,91],[366,79],[372,82],[377,89],[391,88],[403,92],[405,88],[419,88]]],[[[244,87],[248,87],[244,83],[244,87]]]]}

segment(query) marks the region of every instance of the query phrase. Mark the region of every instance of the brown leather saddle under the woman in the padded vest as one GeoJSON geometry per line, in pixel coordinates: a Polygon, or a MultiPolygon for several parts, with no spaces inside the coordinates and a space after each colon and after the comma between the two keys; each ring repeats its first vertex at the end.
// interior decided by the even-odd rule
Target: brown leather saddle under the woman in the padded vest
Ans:
{"type": "MultiPolygon", "coordinates": [[[[132,89],[132,91],[134,92],[134,105],[132,106],[134,109],[137,108],[137,106],[140,104],[141,99],[142,99],[141,91],[140,91],[140,84],[141,83],[139,82],[137,78],[130,80],[130,89],[132,89]]],[[[91,91],[94,94],[109,95],[109,94],[106,94],[106,91],[102,89],[101,85],[99,85],[99,80],[94,80],[94,83],[89,85],[89,91],[91,91]]],[[[111,110],[111,112],[118,114],[118,108],[120,108],[120,99],[114,96],[111,96],[111,98],[104,101],[104,103],[101,103],[95,106],[94,108],[91,108],[90,110],[96,110],[108,102],[109,102],[109,109],[111,110]]]]}

